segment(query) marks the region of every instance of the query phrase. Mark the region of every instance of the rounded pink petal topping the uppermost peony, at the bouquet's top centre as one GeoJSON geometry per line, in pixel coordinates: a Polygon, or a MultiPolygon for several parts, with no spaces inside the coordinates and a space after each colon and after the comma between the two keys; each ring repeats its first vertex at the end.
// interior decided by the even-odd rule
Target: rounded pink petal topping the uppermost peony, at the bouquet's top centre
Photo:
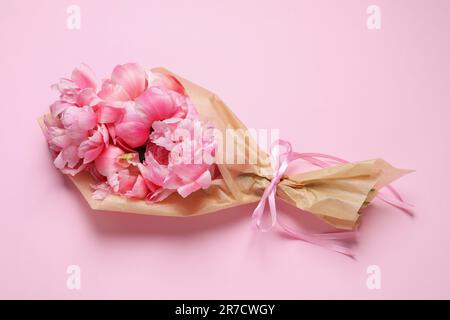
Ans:
{"type": "Polygon", "coordinates": [[[121,85],[131,99],[135,99],[144,92],[147,83],[144,69],[136,63],[116,66],[111,80],[121,85]]]}

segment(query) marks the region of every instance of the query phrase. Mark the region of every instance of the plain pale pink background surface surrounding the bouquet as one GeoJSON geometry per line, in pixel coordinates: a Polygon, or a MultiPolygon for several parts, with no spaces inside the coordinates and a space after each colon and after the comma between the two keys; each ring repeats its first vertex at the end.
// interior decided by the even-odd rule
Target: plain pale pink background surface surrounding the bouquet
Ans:
{"type": "MultiPolygon", "coordinates": [[[[450,1],[0,1],[0,298],[450,298],[450,1]],[[382,28],[366,28],[366,8],[382,28]],[[80,62],[165,66],[304,152],[382,156],[416,217],[377,202],[357,260],[256,233],[253,205],[189,219],[93,212],[36,118],[80,62]],[[300,123],[300,125],[298,125],[300,123]],[[81,267],[81,290],[66,268],[81,267]],[[368,290],[378,265],[382,288],[368,290]]],[[[281,206],[281,214],[295,214],[281,206]]]]}

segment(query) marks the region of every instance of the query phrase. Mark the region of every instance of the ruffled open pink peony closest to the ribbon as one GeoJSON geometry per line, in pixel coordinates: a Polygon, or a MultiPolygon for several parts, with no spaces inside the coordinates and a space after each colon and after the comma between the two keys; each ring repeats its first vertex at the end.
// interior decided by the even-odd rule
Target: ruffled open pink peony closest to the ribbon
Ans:
{"type": "Polygon", "coordinates": [[[151,195],[160,201],[172,192],[187,197],[211,184],[211,165],[216,143],[213,127],[199,120],[168,119],[153,124],[153,133],[139,170],[164,193],[151,195]]]}

